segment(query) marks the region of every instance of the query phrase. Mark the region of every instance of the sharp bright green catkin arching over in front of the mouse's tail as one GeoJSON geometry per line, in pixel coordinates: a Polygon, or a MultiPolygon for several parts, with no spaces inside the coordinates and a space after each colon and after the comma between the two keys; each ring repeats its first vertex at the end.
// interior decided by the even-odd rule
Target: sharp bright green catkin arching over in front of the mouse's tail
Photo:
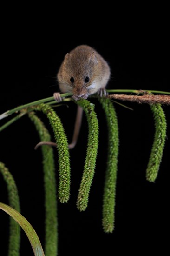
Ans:
{"type": "Polygon", "coordinates": [[[63,125],[49,105],[42,103],[34,109],[46,114],[52,126],[59,154],[59,201],[66,203],[70,197],[70,155],[63,125]]]}

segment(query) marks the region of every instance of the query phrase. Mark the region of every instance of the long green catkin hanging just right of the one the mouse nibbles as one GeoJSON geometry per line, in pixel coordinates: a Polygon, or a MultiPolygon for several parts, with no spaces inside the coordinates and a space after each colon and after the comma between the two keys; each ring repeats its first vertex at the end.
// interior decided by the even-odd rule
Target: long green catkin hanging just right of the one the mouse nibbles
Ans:
{"type": "Polygon", "coordinates": [[[105,233],[112,233],[115,222],[116,180],[118,166],[118,119],[111,100],[99,99],[105,111],[108,127],[108,157],[105,173],[103,195],[103,229],[105,233]]]}

